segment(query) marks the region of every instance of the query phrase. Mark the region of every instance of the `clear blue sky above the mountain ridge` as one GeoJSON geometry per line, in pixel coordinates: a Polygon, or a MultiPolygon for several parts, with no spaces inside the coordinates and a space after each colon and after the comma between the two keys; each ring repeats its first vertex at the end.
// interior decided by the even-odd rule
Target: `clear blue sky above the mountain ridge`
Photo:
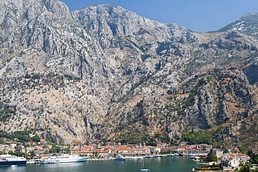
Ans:
{"type": "Polygon", "coordinates": [[[93,4],[121,6],[142,17],[176,23],[192,31],[215,31],[245,13],[258,13],[258,0],[61,0],[69,10],[93,4]]]}

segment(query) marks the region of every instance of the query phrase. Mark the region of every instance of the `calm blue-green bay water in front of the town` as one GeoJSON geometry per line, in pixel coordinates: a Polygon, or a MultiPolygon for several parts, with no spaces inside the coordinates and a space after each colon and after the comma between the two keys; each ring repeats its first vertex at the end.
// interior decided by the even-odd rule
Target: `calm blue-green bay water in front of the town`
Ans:
{"type": "Polygon", "coordinates": [[[192,168],[201,166],[190,160],[190,157],[153,157],[140,159],[126,159],[126,161],[105,160],[75,162],[63,164],[27,164],[14,168],[0,167],[1,172],[135,172],[140,171],[142,162],[150,172],[190,172],[192,168]]]}

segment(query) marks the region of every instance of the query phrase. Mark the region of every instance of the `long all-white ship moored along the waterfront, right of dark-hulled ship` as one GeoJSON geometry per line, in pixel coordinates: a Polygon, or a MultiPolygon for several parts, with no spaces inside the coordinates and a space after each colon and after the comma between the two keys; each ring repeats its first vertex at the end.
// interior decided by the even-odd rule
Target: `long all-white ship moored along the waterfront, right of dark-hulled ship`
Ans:
{"type": "Polygon", "coordinates": [[[68,162],[86,162],[89,157],[79,157],[79,155],[50,156],[47,159],[40,159],[40,164],[57,164],[68,162]]]}

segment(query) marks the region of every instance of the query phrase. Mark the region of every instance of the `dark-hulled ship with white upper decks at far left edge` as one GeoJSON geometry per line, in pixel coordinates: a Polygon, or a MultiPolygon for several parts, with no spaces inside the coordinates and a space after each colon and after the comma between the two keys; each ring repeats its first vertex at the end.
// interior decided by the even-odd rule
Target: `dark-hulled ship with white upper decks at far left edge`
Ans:
{"type": "Polygon", "coordinates": [[[25,157],[17,157],[15,155],[0,155],[0,166],[26,165],[25,157]]]}

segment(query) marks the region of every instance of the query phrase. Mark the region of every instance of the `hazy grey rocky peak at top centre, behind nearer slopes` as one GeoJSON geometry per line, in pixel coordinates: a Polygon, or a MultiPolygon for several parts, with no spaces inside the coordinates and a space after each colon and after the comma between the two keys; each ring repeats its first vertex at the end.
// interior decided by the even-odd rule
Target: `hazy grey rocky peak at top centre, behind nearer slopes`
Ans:
{"type": "Polygon", "coordinates": [[[73,18],[81,22],[92,34],[112,38],[112,36],[135,35],[138,32],[152,34],[157,41],[181,37],[189,33],[184,27],[176,24],[162,24],[139,16],[120,6],[109,4],[87,6],[82,10],[71,12],[73,18]],[[162,33],[162,36],[160,35],[162,33]]]}

